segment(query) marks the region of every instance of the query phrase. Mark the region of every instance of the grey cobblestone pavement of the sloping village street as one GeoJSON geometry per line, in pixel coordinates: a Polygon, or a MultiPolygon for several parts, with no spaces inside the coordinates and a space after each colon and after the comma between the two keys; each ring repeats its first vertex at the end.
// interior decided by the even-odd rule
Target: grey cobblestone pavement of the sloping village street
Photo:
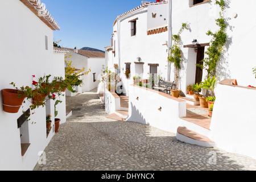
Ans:
{"type": "Polygon", "coordinates": [[[105,118],[96,92],[67,97],[73,110],[35,170],[255,170],[256,160],[183,142],[175,134],[136,122],[105,118]]]}

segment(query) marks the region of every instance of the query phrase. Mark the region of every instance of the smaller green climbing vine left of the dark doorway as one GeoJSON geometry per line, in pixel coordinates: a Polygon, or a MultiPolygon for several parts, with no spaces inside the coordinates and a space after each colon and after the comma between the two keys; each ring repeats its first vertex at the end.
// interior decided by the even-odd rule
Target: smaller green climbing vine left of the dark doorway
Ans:
{"type": "Polygon", "coordinates": [[[170,55],[168,56],[168,61],[170,61],[171,63],[174,63],[174,73],[175,73],[175,83],[177,86],[178,80],[179,80],[179,70],[181,69],[181,62],[183,61],[182,57],[181,57],[181,32],[183,32],[183,30],[188,30],[188,26],[187,23],[182,23],[181,24],[181,28],[179,30],[179,32],[176,35],[172,35],[172,40],[174,40],[174,44],[172,45],[172,47],[170,48],[170,55]]]}

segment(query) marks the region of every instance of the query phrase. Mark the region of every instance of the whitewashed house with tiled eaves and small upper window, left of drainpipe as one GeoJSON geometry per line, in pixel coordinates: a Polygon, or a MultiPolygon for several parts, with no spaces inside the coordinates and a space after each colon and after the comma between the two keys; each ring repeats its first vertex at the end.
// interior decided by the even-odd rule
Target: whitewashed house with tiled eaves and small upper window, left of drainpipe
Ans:
{"type": "Polygon", "coordinates": [[[111,45],[106,47],[108,69],[118,73],[123,94],[128,94],[133,76],[148,79],[150,73],[167,79],[168,3],[143,1],[141,6],[118,15],[111,45]],[[130,68],[130,79],[125,71],[130,68]]]}

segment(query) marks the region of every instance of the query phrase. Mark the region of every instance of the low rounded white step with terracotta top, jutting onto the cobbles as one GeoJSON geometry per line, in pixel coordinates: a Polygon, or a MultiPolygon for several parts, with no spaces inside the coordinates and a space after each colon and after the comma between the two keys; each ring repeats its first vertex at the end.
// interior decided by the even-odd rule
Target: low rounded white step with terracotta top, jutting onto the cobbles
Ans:
{"type": "Polygon", "coordinates": [[[181,142],[189,143],[189,144],[196,144],[198,146],[203,147],[214,147],[215,143],[210,140],[208,137],[196,133],[195,131],[189,130],[185,127],[178,127],[176,138],[181,142]]]}

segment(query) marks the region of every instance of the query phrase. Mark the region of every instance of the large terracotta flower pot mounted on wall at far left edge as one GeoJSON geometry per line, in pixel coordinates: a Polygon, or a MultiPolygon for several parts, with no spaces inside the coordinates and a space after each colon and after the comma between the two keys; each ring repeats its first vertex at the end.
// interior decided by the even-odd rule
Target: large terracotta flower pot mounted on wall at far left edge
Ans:
{"type": "Polygon", "coordinates": [[[22,102],[26,97],[22,96],[22,94],[18,94],[15,89],[3,89],[3,110],[6,113],[18,113],[22,102]],[[20,95],[20,97],[18,97],[20,95]]]}

